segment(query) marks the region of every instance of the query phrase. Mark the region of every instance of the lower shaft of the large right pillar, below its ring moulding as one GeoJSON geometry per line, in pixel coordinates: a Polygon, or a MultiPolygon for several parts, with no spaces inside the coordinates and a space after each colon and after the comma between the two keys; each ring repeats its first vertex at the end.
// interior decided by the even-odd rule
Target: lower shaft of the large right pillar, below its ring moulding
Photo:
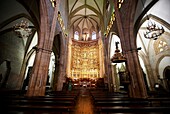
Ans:
{"type": "Polygon", "coordinates": [[[126,58],[130,77],[129,96],[133,98],[146,98],[147,90],[137,50],[128,51],[126,53],[126,58]]]}

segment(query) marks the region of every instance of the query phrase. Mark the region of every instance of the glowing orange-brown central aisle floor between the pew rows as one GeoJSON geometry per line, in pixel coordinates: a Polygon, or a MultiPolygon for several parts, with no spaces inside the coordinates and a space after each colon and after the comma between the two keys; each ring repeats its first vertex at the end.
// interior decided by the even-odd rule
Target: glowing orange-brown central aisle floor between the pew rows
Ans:
{"type": "Polygon", "coordinates": [[[75,114],[94,114],[92,99],[86,88],[80,90],[75,114]]]}

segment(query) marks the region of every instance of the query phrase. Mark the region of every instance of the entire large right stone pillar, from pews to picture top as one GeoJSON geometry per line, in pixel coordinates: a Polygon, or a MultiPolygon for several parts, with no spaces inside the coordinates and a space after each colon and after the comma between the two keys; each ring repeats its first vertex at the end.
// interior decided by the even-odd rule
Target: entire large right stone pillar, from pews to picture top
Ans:
{"type": "Polygon", "coordinates": [[[117,5],[118,0],[113,1],[122,50],[127,58],[127,68],[130,77],[129,96],[134,98],[146,98],[147,90],[139,63],[136,38],[134,36],[134,14],[137,1],[124,1],[121,10],[117,5]],[[122,13],[121,11],[124,10],[126,10],[126,12],[122,13]]]}

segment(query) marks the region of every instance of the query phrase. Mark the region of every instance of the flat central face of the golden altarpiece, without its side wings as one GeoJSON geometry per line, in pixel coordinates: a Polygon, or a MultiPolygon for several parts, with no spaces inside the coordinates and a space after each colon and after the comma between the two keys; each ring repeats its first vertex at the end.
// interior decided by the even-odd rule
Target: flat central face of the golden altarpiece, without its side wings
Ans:
{"type": "Polygon", "coordinates": [[[71,54],[71,78],[98,78],[99,46],[97,42],[73,42],[71,54]]]}

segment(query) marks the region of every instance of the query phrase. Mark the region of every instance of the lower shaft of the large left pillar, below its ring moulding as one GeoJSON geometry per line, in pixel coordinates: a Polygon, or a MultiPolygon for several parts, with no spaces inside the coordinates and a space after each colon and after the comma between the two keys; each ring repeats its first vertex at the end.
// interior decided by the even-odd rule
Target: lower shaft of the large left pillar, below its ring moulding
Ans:
{"type": "Polygon", "coordinates": [[[39,49],[30,76],[27,96],[44,96],[51,53],[39,49]],[[38,60],[39,59],[39,60],[38,60]]]}

